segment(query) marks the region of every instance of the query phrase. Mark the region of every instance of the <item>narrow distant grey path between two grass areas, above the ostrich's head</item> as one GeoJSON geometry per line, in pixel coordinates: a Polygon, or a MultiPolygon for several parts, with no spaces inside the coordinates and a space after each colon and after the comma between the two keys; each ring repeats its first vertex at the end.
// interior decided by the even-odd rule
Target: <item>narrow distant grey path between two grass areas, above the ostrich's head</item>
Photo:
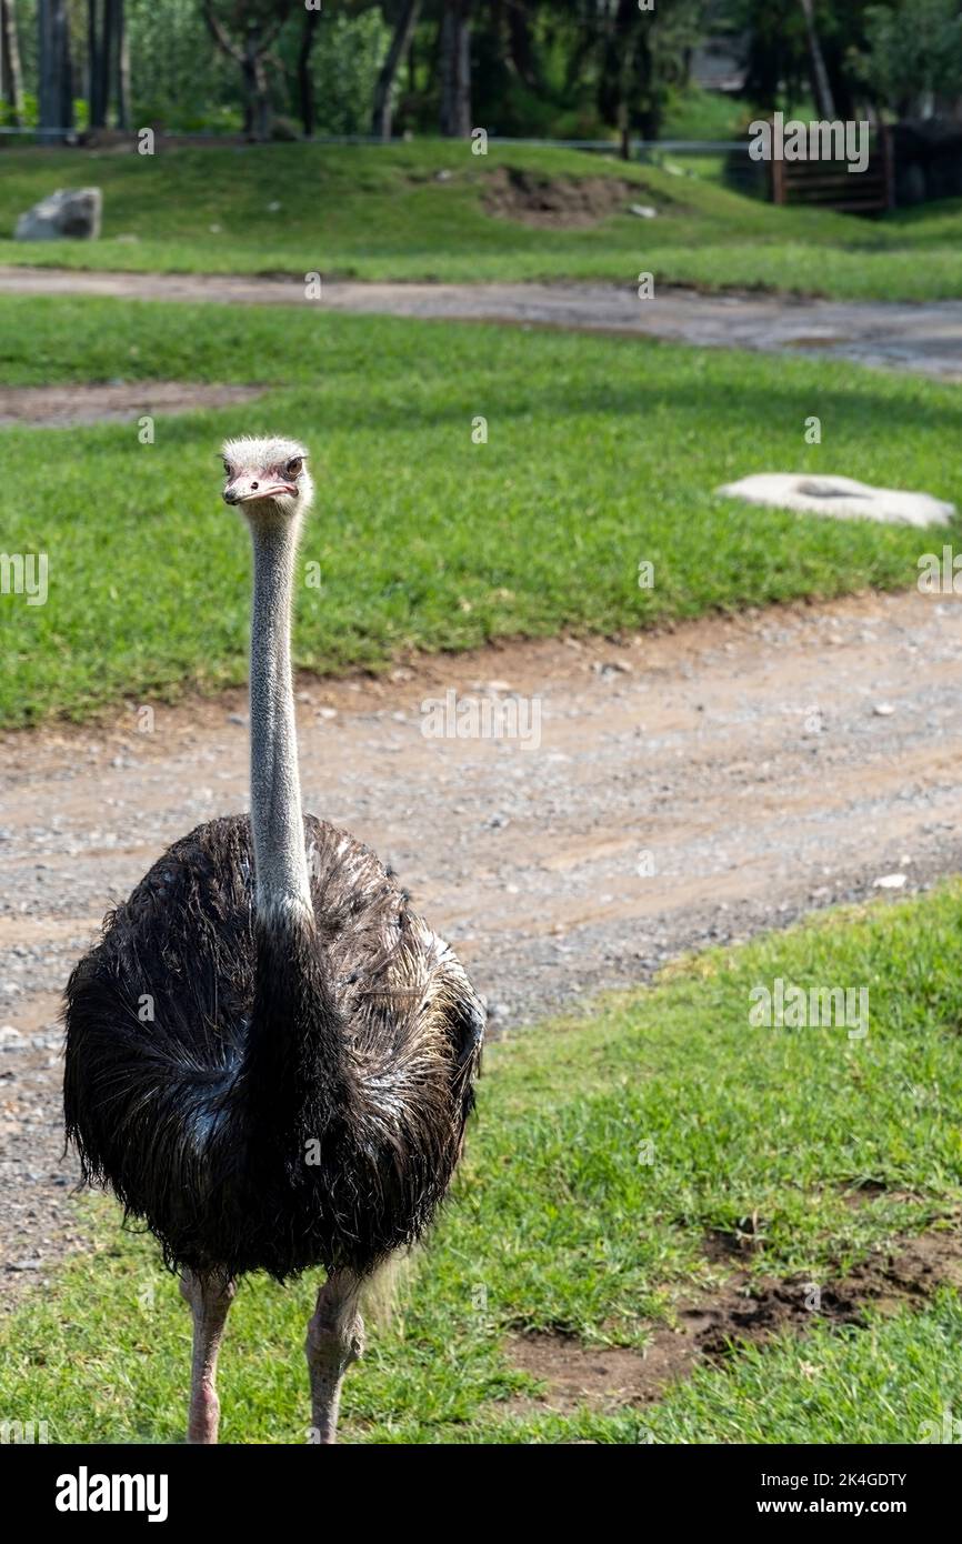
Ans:
{"type": "MultiPolygon", "coordinates": [[[[293,279],[221,273],[88,273],[0,267],[0,295],[110,295],[300,306],[293,279]]],[[[510,321],[673,338],[703,347],[804,349],[942,380],[962,380],[962,301],[828,301],[699,295],[659,287],[641,301],[613,284],[354,284],[324,281],[312,304],[460,321],[510,321]]]]}

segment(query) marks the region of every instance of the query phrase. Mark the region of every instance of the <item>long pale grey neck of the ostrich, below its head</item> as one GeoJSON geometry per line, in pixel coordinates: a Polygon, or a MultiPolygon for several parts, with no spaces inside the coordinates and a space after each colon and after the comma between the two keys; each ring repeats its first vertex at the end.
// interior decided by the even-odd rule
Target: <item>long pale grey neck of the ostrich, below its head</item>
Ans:
{"type": "Polygon", "coordinates": [[[255,522],[250,625],[250,824],[259,917],[310,908],[290,676],[296,528],[255,522]]]}

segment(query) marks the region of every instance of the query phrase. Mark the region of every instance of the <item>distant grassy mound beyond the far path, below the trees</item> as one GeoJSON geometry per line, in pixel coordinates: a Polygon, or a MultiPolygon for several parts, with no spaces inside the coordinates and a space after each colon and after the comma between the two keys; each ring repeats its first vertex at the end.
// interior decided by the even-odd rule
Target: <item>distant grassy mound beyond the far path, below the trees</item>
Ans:
{"type": "Polygon", "coordinates": [[[653,272],[659,281],[706,289],[879,300],[962,295],[962,201],[866,221],[775,208],[701,174],[672,176],[582,151],[491,145],[485,157],[473,156],[468,144],[431,141],[156,156],[0,150],[0,262],[621,284],[653,272]],[[633,199],[653,202],[659,218],[615,213],[590,229],[531,229],[485,208],[485,185],[500,167],[536,178],[625,178],[636,187],[633,199]],[[449,181],[435,181],[440,170],[452,173],[449,181]],[[105,195],[102,241],[9,239],[17,215],[51,185],[90,182],[105,195]]]}

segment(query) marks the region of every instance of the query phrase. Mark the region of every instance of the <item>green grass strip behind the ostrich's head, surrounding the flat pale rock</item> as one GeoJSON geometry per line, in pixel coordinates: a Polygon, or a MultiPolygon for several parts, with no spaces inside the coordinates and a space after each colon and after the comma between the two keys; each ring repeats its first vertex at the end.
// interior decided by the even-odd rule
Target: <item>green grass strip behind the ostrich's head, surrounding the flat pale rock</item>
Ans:
{"type": "MultiPolygon", "coordinates": [[[[610,631],[712,608],[894,588],[942,533],[716,499],[792,468],[962,503],[950,386],[849,364],[494,326],[91,300],[0,303],[0,378],[255,381],[241,408],[0,431],[0,550],[49,596],[0,598],[0,723],[246,678],[249,551],[219,500],[227,432],[315,455],[296,655],[320,672],[409,647],[610,631]],[[823,443],[804,443],[804,420],[823,443]],[[488,443],[473,422],[488,418],[488,443]],[[883,426],[883,432],[880,432],[883,426]],[[638,565],[655,564],[639,590],[638,565]],[[307,573],[307,570],[306,570],[307,573]]],[[[951,533],[945,540],[951,539],[951,533]]]]}

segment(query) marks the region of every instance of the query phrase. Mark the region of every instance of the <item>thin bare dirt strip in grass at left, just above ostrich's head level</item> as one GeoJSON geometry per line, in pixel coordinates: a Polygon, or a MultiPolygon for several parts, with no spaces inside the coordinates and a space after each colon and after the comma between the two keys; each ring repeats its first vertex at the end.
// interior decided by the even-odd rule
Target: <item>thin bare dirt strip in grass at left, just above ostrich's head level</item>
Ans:
{"type": "Polygon", "coordinates": [[[227,408],[263,394],[263,386],[202,386],[190,381],[0,386],[0,425],[66,429],[76,423],[116,423],[144,414],[162,417],[195,408],[227,408]]]}

